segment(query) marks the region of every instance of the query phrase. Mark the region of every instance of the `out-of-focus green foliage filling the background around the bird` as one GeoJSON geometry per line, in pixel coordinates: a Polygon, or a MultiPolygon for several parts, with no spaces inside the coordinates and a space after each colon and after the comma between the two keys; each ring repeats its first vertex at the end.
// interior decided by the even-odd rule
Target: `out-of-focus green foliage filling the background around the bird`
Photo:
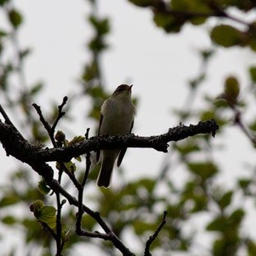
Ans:
{"type": "MultiPolygon", "coordinates": [[[[79,85],[83,97],[91,100],[88,117],[97,122],[101,103],[109,95],[102,78],[101,55],[108,50],[106,38],[111,32],[111,26],[108,17],[101,17],[95,11],[96,2],[88,1],[91,13],[87,22],[94,33],[87,44],[91,59],[83,67],[79,85]]],[[[181,122],[195,118],[216,119],[220,125],[216,136],[222,136],[224,131],[228,131],[229,127],[235,124],[255,146],[256,116],[251,116],[250,121],[245,123],[243,113],[255,108],[256,66],[250,66],[246,71],[250,80],[246,90],[243,90],[236,75],[228,74],[221,92],[204,95],[204,108],[197,110],[193,108],[208,78],[209,62],[215,56],[218,47],[244,47],[251,49],[252,52],[256,51],[256,21],[248,22],[245,19],[249,11],[255,12],[255,1],[130,0],[129,2],[141,8],[150,8],[154,15],[154,24],[166,33],[179,33],[187,23],[200,26],[206,24],[212,17],[218,19],[218,23],[212,25],[208,31],[213,46],[211,49],[198,51],[202,61],[201,68],[198,75],[187,82],[188,96],[184,107],[174,110],[174,114],[181,122]],[[240,13],[239,18],[235,16],[236,12],[230,12],[231,9],[240,13]],[[240,26],[237,26],[238,24],[240,26]],[[253,97],[253,100],[249,100],[250,97],[253,97]]],[[[31,54],[29,48],[19,49],[18,44],[15,43],[14,56],[8,56],[9,42],[17,42],[17,34],[23,26],[23,16],[26,16],[26,13],[20,13],[11,0],[0,0],[0,7],[10,25],[8,28],[1,27],[0,30],[0,93],[3,101],[1,103],[8,108],[8,112],[18,116],[15,124],[25,132],[26,138],[41,147],[44,146],[42,143],[49,144],[49,136],[38,116],[31,109],[31,102],[40,95],[44,83],[38,81],[35,84],[26,84],[23,79],[23,64],[31,54]],[[15,95],[12,94],[13,76],[19,77],[20,90],[15,95]]],[[[54,103],[51,112],[45,115],[45,118],[51,124],[57,115],[58,106],[54,103]]],[[[68,115],[63,117],[64,121],[68,119],[68,115]]],[[[55,134],[56,144],[59,147],[67,147],[84,139],[83,136],[75,136],[69,141],[65,132],[58,131],[55,134]]],[[[241,251],[244,255],[255,255],[256,238],[243,229],[248,210],[244,207],[244,201],[250,199],[255,205],[255,166],[251,167],[250,176],[241,175],[233,187],[221,186],[216,181],[221,179],[223,170],[222,166],[219,166],[218,159],[214,157],[217,149],[212,145],[210,136],[195,136],[193,139],[172,143],[171,147],[172,154],[166,157],[167,163],[156,170],[154,178],[143,177],[128,183],[121,180],[118,187],[98,189],[90,193],[86,190],[84,193],[87,202],[92,203],[95,210],[108,221],[118,237],[124,239],[129,230],[129,235],[141,244],[141,250],[136,252],[138,255],[142,254],[145,241],[161,222],[164,210],[168,211],[167,224],[151,247],[156,255],[165,252],[168,254],[183,252],[184,255],[191,255],[195,252],[193,251],[195,247],[198,255],[238,255],[241,251]],[[181,183],[177,182],[173,176],[175,172],[181,172],[180,176],[187,179],[184,178],[181,183]],[[238,197],[240,200],[237,200],[238,197]],[[201,221],[203,215],[208,217],[206,221],[201,221]],[[193,220],[200,225],[193,223],[193,220]],[[197,226],[202,226],[201,224],[203,230],[197,230],[197,226]],[[200,248],[202,244],[198,245],[198,241],[195,240],[200,232],[205,235],[211,234],[210,242],[202,248],[200,248]]],[[[72,159],[68,163],[56,163],[56,174],[65,169],[69,177],[77,175],[79,180],[84,171],[78,164],[81,160],[77,158],[76,161],[72,159]]],[[[98,169],[97,165],[92,168],[87,186],[91,184],[95,186],[98,169]]],[[[71,184],[70,180],[67,184],[64,183],[65,187],[71,184]]],[[[47,224],[50,229],[55,228],[56,203],[54,202],[52,191],[46,182],[44,180],[38,182],[38,177],[34,176],[33,171],[26,166],[13,170],[9,182],[0,187],[1,223],[11,230],[24,230],[24,244],[27,250],[24,254],[31,254],[35,248],[43,248],[41,255],[55,253],[54,240],[44,226],[47,224]],[[28,214],[16,214],[16,209],[23,209],[28,214]]],[[[66,241],[67,254],[73,255],[73,246],[82,242],[101,248],[102,255],[115,255],[113,245],[109,242],[98,243],[92,238],[78,237],[74,232],[76,209],[69,207],[65,202],[63,205],[65,210],[61,211],[61,239],[66,241]]],[[[98,228],[96,221],[88,215],[83,216],[82,226],[88,231],[98,228]]],[[[1,239],[4,239],[4,235],[1,234],[1,239]]],[[[19,248],[13,247],[4,253],[15,255],[18,250],[19,248]]]]}

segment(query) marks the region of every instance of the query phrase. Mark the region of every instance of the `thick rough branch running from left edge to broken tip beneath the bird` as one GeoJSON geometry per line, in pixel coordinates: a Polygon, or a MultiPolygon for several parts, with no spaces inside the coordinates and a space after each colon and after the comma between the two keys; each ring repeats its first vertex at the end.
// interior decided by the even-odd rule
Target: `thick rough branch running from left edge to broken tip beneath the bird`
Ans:
{"type": "Polygon", "coordinates": [[[215,136],[219,125],[215,120],[199,122],[196,125],[179,125],[170,128],[162,135],[139,137],[135,135],[125,136],[99,136],[76,143],[63,148],[40,148],[28,143],[12,124],[0,122],[0,141],[7,155],[12,155],[22,162],[68,162],[73,157],[86,154],[91,151],[122,148],[142,147],[154,148],[157,151],[167,152],[168,142],[185,139],[197,134],[212,134],[215,136]]]}

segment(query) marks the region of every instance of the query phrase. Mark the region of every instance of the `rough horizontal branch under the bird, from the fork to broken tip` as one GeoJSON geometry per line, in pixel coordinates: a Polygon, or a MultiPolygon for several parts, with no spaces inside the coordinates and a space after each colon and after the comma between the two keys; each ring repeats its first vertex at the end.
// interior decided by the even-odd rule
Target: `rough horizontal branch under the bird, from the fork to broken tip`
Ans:
{"type": "Polygon", "coordinates": [[[170,141],[179,141],[197,134],[212,134],[215,136],[218,129],[219,125],[215,120],[208,120],[205,122],[199,122],[197,125],[179,125],[174,128],[170,128],[167,133],[157,136],[140,137],[132,134],[125,136],[91,137],[88,140],[84,140],[66,148],[37,150],[33,155],[33,158],[38,160],[40,159],[45,162],[68,162],[73,157],[78,157],[91,151],[122,147],[154,148],[157,151],[166,153],[168,148],[167,143],[170,141]]]}

